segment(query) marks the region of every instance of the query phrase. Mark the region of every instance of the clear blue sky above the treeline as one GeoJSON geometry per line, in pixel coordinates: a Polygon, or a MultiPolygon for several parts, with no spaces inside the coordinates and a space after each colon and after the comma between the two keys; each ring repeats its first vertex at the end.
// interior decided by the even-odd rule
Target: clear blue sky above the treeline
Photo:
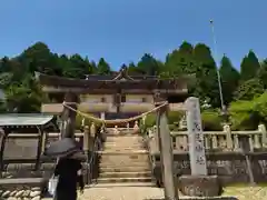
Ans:
{"type": "Polygon", "coordinates": [[[186,40],[208,44],[217,62],[225,53],[238,69],[250,49],[267,58],[266,8],[266,0],[1,0],[0,57],[42,41],[119,69],[144,53],[164,61],[186,40]]]}

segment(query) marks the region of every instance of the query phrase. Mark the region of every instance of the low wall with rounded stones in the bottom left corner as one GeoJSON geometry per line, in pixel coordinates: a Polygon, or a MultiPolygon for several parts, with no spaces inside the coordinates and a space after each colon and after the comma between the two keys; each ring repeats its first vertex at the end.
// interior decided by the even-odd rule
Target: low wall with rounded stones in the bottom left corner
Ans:
{"type": "Polygon", "coordinates": [[[0,179],[1,200],[40,200],[43,194],[42,179],[0,179]]]}

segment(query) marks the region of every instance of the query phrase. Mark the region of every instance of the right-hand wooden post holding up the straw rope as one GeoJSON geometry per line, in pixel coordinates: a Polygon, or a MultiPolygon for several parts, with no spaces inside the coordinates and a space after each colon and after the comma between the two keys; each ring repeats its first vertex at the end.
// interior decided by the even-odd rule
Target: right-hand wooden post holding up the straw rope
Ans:
{"type": "Polygon", "coordinates": [[[162,180],[165,186],[165,199],[177,200],[178,188],[177,188],[176,176],[174,170],[172,143],[171,143],[170,130],[169,130],[166,112],[167,112],[167,106],[160,108],[157,116],[160,163],[161,163],[162,180]]]}

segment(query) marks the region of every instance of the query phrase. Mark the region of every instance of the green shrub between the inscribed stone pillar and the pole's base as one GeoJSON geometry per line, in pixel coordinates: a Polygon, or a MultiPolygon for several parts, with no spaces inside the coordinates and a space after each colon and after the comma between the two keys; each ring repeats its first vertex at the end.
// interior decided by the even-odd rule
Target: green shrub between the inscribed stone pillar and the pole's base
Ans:
{"type": "Polygon", "coordinates": [[[222,130],[222,120],[217,110],[205,110],[201,113],[202,129],[205,131],[220,131],[222,130]]]}

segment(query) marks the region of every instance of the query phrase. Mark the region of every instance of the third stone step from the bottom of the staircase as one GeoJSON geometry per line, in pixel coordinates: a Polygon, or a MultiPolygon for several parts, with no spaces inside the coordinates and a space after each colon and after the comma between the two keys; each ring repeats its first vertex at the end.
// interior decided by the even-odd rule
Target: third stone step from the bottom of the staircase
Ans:
{"type": "Polygon", "coordinates": [[[138,178],[138,177],[150,177],[151,171],[134,171],[134,172],[102,172],[99,178],[138,178]]]}

